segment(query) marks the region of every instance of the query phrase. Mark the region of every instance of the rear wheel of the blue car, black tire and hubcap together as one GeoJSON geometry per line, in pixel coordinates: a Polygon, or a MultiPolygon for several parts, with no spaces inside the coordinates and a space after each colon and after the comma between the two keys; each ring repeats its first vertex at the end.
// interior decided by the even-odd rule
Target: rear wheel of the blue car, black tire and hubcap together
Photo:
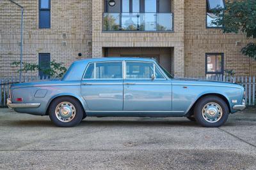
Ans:
{"type": "Polygon", "coordinates": [[[83,118],[84,110],[73,97],[58,97],[49,107],[49,117],[58,127],[74,127],[83,118]]]}

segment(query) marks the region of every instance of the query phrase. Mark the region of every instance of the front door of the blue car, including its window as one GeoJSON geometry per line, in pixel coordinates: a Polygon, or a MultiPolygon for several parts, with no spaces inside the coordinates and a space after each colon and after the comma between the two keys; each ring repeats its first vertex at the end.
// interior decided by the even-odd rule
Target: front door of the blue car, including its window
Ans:
{"type": "Polygon", "coordinates": [[[126,61],[124,111],[171,111],[172,84],[153,62],[126,61]],[[154,80],[152,79],[154,76],[154,80]]]}

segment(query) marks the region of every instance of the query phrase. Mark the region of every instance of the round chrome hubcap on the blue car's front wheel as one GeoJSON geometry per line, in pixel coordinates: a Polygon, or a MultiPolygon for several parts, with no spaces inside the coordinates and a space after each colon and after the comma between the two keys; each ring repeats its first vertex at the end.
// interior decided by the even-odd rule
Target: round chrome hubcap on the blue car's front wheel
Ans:
{"type": "Polygon", "coordinates": [[[217,103],[207,103],[202,110],[202,115],[207,122],[218,122],[222,117],[221,106],[217,103]]]}

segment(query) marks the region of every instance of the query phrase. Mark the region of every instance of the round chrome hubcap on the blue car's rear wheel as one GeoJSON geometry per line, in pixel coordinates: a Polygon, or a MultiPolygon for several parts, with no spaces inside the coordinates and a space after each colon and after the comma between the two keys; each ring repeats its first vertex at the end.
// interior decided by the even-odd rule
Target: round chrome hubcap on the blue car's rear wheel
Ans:
{"type": "Polygon", "coordinates": [[[76,108],[72,103],[62,102],[56,107],[55,115],[61,122],[70,122],[76,116],[76,108]]]}

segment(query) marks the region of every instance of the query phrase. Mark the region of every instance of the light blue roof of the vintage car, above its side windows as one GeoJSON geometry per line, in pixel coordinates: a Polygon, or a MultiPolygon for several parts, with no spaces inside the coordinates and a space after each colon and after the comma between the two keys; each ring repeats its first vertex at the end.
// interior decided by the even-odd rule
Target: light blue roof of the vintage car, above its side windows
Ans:
{"type": "Polygon", "coordinates": [[[100,61],[122,61],[122,60],[132,60],[132,61],[147,61],[155,62],[154,59],[141,58],[141,57],[99,57],[99,58],[88,58],[83,60],[77,60],[76,62],[100,62],[100,61]]]}

